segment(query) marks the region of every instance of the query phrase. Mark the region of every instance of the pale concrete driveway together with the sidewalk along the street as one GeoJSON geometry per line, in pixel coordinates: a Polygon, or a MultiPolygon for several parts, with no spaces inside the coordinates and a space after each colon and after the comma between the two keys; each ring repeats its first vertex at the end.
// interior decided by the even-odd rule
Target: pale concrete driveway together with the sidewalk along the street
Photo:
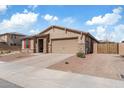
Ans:
{"type": "Polygon", "coordinates": [[[21,87],[124,87],[124,81],[46,69],[70,54],[41,54],[18,62],[0,62],[0,78],[21,87]]]}

